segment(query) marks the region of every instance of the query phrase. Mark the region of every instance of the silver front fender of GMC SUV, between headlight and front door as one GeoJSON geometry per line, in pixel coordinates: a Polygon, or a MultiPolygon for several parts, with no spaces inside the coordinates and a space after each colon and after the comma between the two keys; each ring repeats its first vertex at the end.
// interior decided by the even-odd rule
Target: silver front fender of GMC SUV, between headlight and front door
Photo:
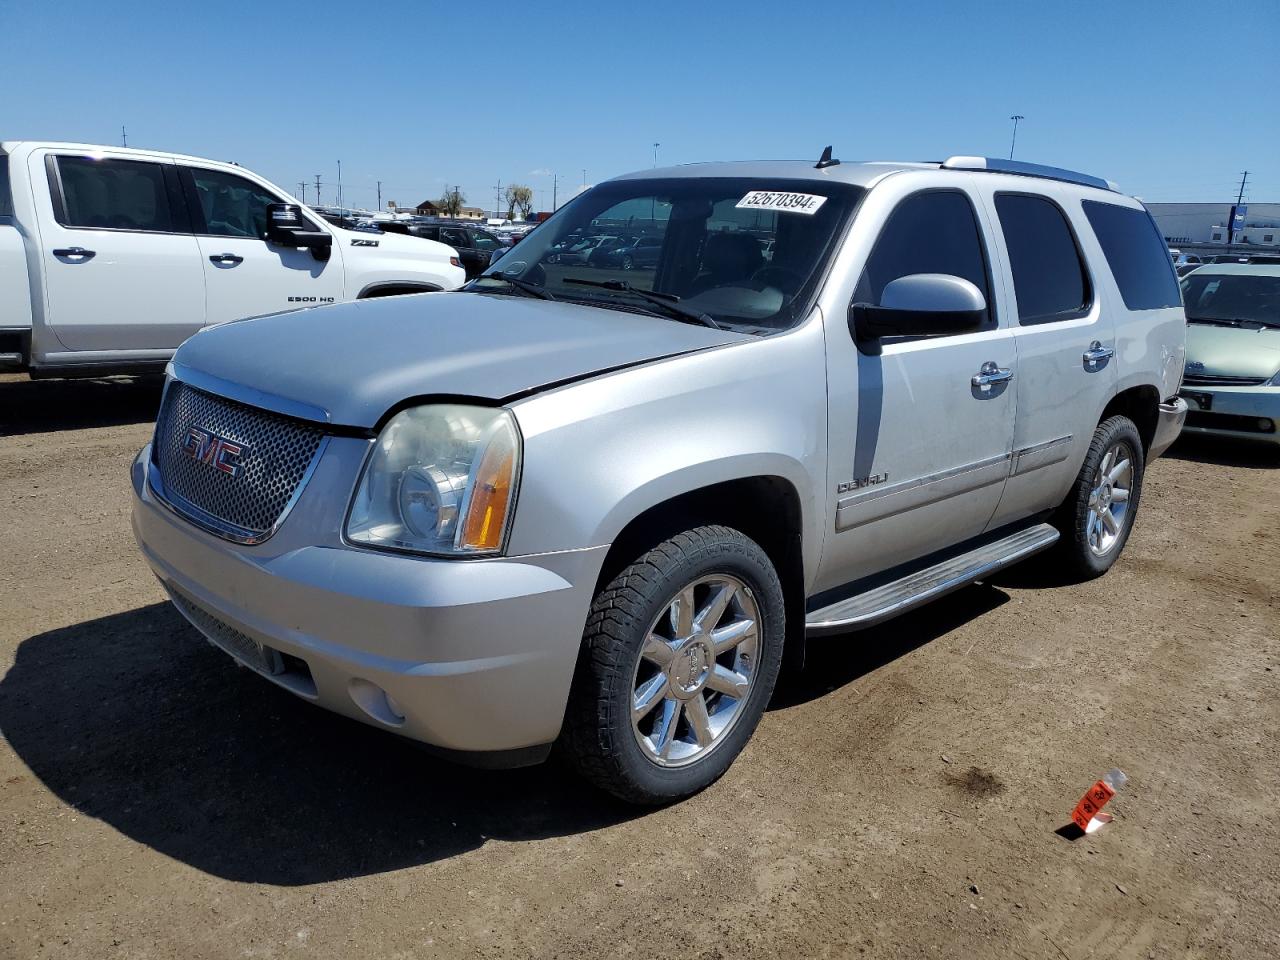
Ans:
{"type": "Polygon", "coordinates": [[[815,572],[827,466],[820,325],[622,370],[512,410],[525,438],[512,554],[609,544],[675,497],[771,476],[799,494],[806,580],[815,572]]]}

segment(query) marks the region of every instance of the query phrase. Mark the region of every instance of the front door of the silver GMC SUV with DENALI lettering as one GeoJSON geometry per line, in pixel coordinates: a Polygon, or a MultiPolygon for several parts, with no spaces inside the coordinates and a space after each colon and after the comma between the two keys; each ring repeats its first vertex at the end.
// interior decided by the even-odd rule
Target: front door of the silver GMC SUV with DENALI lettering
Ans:
{"type": "Polygon", "coordinates": [[[900,276],[948,274],[982,292],[988,315],[975,332],[864,344],[854,343],[845,316],[831,319],[827,495],[835,529],[818,590],[979,535],[1009,475],[1015,353],[992,291],[983,221],[966,189],[911,184],[886,183],[859,212],[861,223],[883,228],[852,302],[879,303],[900,276]]]}

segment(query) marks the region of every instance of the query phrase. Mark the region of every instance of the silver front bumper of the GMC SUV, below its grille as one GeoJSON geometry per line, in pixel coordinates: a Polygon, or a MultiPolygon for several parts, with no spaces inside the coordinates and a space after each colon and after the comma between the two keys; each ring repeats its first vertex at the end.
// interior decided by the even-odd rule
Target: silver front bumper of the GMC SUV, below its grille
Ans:
{"type": "Polygon", "coordinates": [[[159,502],[143,448],[132,468],[142,554],[206,639],[303,699],[475,763],[541,759],[559,733],[607,547],[472,561],[351,548],[334,529],[347,495],[335,503],[326,489],[349,471],[325,461],[358,454],[342,447],[330,445],[280,530],[256,547],[159,502]]]}

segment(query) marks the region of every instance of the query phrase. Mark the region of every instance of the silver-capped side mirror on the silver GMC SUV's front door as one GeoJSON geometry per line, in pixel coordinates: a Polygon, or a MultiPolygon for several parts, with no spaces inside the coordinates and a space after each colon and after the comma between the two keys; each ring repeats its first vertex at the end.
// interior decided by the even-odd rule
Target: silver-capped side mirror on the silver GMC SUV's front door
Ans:
{"type": "Polygon", "coordinates": [[[879,303],[851,303],[849,332],[859,343],[882,337],[941,337],[982,328],[987,298],[951,274],[910,274],[884,284],[879,303]]]}

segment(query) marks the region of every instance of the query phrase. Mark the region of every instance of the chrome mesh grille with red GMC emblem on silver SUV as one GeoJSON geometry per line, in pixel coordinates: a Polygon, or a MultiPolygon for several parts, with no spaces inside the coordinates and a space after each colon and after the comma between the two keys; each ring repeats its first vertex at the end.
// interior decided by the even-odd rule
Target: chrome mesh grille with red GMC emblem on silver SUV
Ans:
{"type": "Polygon", "coordinates": [[[156,420],[156,493],[198,526],[239,543],[260,543],[284,517],[320,456],[323,430],[173,380],[156,420]],[[192,430],[237,444],[227,470],[188,453],[192,430]],[[233,472],[234,471],[234,472],[233,472]]]}

